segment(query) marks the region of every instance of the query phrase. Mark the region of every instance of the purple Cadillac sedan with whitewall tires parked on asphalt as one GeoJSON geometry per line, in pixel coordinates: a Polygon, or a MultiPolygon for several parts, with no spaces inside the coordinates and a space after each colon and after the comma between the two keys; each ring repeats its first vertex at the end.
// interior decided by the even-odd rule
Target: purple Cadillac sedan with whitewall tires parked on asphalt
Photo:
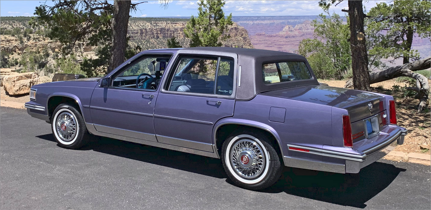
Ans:
{"type": "Polygon", "coordinates": [[[102,78],[34,85],[25,107],[64,148],[94,134],[221,158],[253,190],[283,165],[358,173],[407,134],[392,96],[319,85],[303,56],[260,49],[147,50],[102,78]]]}

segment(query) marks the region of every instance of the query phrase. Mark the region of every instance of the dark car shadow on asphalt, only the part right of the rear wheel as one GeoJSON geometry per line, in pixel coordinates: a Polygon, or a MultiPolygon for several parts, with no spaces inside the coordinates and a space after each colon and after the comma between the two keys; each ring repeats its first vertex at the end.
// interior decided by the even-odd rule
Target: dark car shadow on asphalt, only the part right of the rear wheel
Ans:
{"type": "Polygon", "coordinates": [[[262,192],[285,192],[332,204],[365,208],[365,202],[384,190],[406,169],[375,162],[359,173],[331,173],[286,167],[281,179],[262,192]]]}

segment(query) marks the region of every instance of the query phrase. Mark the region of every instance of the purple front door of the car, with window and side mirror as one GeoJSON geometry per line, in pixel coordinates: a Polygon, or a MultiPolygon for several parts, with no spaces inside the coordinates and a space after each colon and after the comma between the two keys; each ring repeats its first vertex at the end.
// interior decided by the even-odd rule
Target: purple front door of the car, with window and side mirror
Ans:
{"type": "Polygon", "coordinates": [[[157,141],[153,124],[156,90],[170,57],[144,54],[113,74],[109,87],[96,87],[90,102],[96,130],[137,142],[157,141]]]}

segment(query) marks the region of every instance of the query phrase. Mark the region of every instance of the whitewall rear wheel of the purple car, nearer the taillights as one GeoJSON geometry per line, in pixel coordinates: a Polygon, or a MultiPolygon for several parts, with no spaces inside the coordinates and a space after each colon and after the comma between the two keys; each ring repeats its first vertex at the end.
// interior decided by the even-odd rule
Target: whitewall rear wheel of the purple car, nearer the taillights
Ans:
{"type": "Polygon", "coordinates": [[[281,176],[281,161],[269,137],[261,132],[235,132],[222,146],[222,163],[228,177],[245,189],[273,185],[281,176]]]}

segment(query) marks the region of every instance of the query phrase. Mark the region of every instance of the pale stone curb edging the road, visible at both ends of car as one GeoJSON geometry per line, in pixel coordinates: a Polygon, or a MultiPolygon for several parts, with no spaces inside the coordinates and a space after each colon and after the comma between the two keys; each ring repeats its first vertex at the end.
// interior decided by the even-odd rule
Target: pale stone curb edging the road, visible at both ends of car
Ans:
{"type": "MultiPolygon", "coordinates": [[[[25,109],[24,103],[0,100],[0,107],[11,107],[16,109],[25,109]]],[[[424,165],[431,165],[431,155],[419,153],[405,153],[400,151],[390,151],[384,159],[391,161],[405,161],[411,163],[419,163],[424,165]]]]}

